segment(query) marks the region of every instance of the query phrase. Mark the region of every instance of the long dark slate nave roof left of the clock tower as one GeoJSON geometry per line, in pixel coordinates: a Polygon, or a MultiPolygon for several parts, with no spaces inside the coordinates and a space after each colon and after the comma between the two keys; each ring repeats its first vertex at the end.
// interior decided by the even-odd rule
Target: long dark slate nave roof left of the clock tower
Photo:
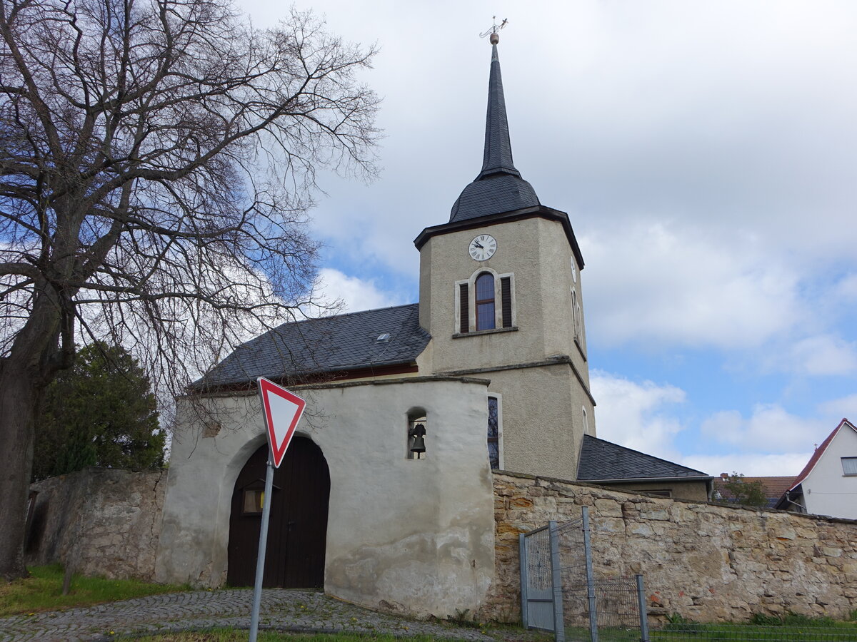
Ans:
{"type": "Polygon", "coordinates": [[[417,303],[297,321],[244,343],[195,387],[409,364],[430,338],[420,327],[417,303]],[[384,333],[389,333],[389,341],[379,342],[384,333]]]}

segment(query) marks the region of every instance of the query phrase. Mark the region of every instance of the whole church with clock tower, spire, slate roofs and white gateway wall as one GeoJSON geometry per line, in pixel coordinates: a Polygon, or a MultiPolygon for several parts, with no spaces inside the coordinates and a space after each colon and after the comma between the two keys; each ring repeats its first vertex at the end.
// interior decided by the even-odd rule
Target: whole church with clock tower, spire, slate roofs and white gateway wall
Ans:
{"type": "Polygon", "coordinates": [[[596,438],[584,259],[568,215],[512,161],[498,40],[482,169],[414,241],[419,302],[284,324],[179,400],[159,581],[253,582],[267,461],[256,377],[307,400],[274,477],[265,586],[476,612],[494,581],[492,469],[704,501],[704,473],[596,438]]]}

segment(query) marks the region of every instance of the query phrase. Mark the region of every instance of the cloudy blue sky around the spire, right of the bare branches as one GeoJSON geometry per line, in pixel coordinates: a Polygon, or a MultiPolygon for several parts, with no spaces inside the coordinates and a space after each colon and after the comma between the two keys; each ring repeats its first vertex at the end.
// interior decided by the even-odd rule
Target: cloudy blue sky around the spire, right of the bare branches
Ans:
{"type": "MultiPolygon", "coordinates": [[[[258,26],[288,6],[240,0],[258,26]]],[[[482,166],[492,16],[516,167],[566,211],[598,437],[795,475],[857,420],[857,3],[297,0],[380,52],[380,177],[322,175],[321,287],[417,301],[482,166]]]]}

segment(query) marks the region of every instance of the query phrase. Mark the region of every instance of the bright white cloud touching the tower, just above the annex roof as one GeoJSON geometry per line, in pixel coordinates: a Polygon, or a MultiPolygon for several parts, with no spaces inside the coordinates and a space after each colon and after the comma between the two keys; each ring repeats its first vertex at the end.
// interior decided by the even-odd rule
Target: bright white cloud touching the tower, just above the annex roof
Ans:
{"type": "Polygon", "coordinates": [[[635,383],[601,371],[592,373],[590,384],[598,401],[599,438],[667,460],[679,456],[672,440],[682,425],[669,409],[685,401],[684,390],[651,381],[635,383]]]}

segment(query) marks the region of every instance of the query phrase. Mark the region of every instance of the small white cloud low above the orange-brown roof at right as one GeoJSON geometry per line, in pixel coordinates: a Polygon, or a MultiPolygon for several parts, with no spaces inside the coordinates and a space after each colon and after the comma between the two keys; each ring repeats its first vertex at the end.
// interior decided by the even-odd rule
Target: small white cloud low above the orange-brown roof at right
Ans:
{"type": "Polygon", "coordinates": [[[700,427],[704,437],[718,443],[779,455],[812,450],[830,430],[823,419],[798,417],[777,404],[756,404],[749,419],[735,410],[714,413],[700,427]]]}

